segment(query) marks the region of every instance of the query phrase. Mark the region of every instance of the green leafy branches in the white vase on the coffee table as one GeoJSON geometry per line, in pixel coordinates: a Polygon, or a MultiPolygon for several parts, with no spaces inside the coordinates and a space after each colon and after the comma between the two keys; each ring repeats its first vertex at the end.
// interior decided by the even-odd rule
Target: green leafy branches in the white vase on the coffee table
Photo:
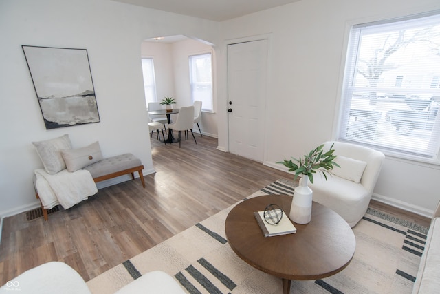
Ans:
{"type": "Polygon", "coordinates": [[[330,174],[329,170],[333,169],[334,167],[340,167],[338,163],[333,162],[333,160],[336,158],[336,155],[333,155],[333,152],[335,151],[333,149],[333,145],[334,144],[332,144],[329,151],[325,153],[322,150],[324,148],[324,144],[322,144],[311,150],[309,154],[305,154],[299,159],[292,157],[291,160],[284,160],[276,163],[280,163],[285,167],[288,167],[289,171],[294,171],[294,180],[296,180],[300,174],[303,174],[308,176],[310,182],[313,184],[314,174],[316,174],[316,171],[322,172],[325,180],[327,180],[326,173],[330,174]]]}

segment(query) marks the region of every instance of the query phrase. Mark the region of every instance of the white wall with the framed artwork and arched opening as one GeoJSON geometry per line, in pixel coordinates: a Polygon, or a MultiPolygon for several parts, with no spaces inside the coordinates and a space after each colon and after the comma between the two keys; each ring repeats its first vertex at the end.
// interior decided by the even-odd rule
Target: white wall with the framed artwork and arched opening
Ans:
{"type": "Polygon", "coordinates": [[[185,34],[217,43],[219,23],[108,0],[0,1],[0,216],[38,205],[31,144],[69,134],[74,147],[100,141],[104,156],[131,152],[153,172],[141,43],[185,34]],[[46,130],[21,45],[88,50],[101,122],[46,130]]]}

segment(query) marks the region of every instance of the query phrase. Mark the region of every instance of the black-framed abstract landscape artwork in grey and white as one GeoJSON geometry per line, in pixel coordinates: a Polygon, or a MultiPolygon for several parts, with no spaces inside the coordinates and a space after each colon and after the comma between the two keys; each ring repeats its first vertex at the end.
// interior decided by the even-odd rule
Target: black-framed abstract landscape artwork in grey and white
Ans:
{"type": "Polygon", "coordinates": [[[100,121],[86,49],[21,47],[46,129],[100,121]]]}

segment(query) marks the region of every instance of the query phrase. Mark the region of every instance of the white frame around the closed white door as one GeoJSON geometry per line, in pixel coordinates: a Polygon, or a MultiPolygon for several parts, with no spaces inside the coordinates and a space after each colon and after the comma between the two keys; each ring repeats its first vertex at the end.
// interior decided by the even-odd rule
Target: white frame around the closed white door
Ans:
{"type": "Polygon", "coordinates": [[[237,38],[237,39],[228,39],[225,41],[225,85],[226,85],[226,90],[225,90],[225,114],[226,114],[226,134],[225,134],[225,151],[230,152],[230,142],[229,142],[229,113],[228,113],[228,101],[229,101],[229,96],[228,96],[228,45],[233,45],[233,44],[237,44],[237,43],[246,43],[246,42],[252,42],[252,41],[261,41],[261,40],[267,40],[267,72],[266,72],[266,92],[264,95],[264,103],[263,103],[263,107],[264,107],[264,118],[263,118],[263,162],[267,161],[267,114],[268,112],[268,107],[267,105],[269,103],[267,103],[268,101],[268,93],[270,92],[270,72],[272,69],[271,66],[271,59],[272,59],[272,41],[271,41],[271,35],[272,34],[259,34],[259,35],[255,35],[255,36],[248,36],[248,37],[243,37],[243,38],[237,38]]]}

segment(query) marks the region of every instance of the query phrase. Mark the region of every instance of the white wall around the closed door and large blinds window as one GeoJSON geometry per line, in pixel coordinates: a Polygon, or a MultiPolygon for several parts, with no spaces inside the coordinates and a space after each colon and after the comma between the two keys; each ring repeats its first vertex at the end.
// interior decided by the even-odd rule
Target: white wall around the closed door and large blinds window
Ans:
{"type": "MultiPolygon", "coordinates": [[[[439,8],[438,0],[307,0],[223,22],[222,65],[226,43],[269,36],[265,164],[281,169],[275,162],[335,138],[350,24],[439,8]]],[[[221,71],[219,109],[225,109],[226,68],[221,71]]],[[[228,150],[227,121],[219,113],[219,149],[228,150]]],[[[374,197],[429,215],[440,199],[439,178],[439,165],[387,157],[374,197]]]]}

